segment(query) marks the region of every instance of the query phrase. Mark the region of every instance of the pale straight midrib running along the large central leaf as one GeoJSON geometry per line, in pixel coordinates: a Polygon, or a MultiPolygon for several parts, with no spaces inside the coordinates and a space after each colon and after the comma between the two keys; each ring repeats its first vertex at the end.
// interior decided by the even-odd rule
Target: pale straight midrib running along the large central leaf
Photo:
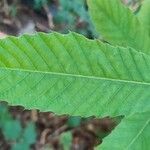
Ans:
{"type": "Polygon", "coordinates": [[[89,76],[89,75],[80,75],[80,74],[71,74],[71,73],[60,73],[60,72],[48,72],[48,71],[40,71],[40,70],[28,70],[28,69],[19,69],[19,68],[3,68],[0,67],[0,70],[8,70],[8,71],[19,71],[19,72],[28,72],[28,73],[41,73],[41,74],[49,74],[56,76],[68,76],[68,77],[76,77],[76,78],[87,78],[93,80],[105,80],[112,82],[120,82],[120,83],[129,83],[129,84],[137,84],[137,85],[148,85],[150,86],[150,82],[142,82],[142,81],[132,81],[125,79],[115,79],[115,78],[106,78],[106,77],[98,77],[98,76],[89,76]]]}

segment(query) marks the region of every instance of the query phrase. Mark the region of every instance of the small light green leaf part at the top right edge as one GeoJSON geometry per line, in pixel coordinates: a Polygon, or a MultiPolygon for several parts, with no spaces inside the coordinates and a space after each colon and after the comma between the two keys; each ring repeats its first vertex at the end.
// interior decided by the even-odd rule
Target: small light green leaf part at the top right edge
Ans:
{"type": "Polygon", "coordinates": [[[143,25],[145,25],[150,33],[150,0],[144,0],[138,18],[143,25]]]}

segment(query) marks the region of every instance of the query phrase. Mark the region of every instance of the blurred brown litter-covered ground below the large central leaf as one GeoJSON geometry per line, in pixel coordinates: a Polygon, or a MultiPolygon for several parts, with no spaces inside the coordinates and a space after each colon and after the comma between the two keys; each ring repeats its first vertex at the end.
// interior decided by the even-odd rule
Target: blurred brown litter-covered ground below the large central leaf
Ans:
{"type": "MultiPolygon", "coordinates": [[[[68,149],[73,150],[92,150],[94,146],[102,142],[102,138],[108,135],[112,129],[120,122],[121,117],[116,118],[80,118],[56,116],[49,112],[39,112],[37,110],[24,110],[22,107],[8,107],[5,103],[0,105],[0,149],[9,150],[15,145],[19,145],[22,138],[23,130],[27,128],[29,124],[34,125],[34,129],[31,129],[27,135],[27,139],[33,141],[29,144],[29,148],[32,150],[43,150],[46,147],[54,150],[63,150],[64,142],[60,136],[65,132],[71,132],[72,139],[70,140],[70,147],[68,149]],[[6,110],[4,113],[4,109],[6,110]],[[7,117],[9,116],[9,117],[7,117]],[[5,118],[2,120],[2,118],[5,118]],[[3,129],[2,125],[9,122],[11,128],[3,129]],[[18,129],[13,125],[13,121],[18,121],[23,130],[20,131],[19,138],[11,139],[13,132],[17,132],[18,129]],[[5,131],[6,130],[6,131],[5,131]],[[7,133],[10,131],[10,133],[7,133]],[[16,131],[15,131],[16,130],[16,131]],[[7,134],[4,134],[4,133],[7,134]],[[36,136],[32,138],[32,133],[36,136]],[[6,135],[6,137],[5,137],[6,135]]],[[[6,125],[6,124],[5,124],[6,125]]],[[[24,145],[21,144],[21,149],[24,145]]],[[[14,148],[15,149],[15,148],[14,148]]],[[[17,148],[16,148],[17,149],[17,148]]]]}

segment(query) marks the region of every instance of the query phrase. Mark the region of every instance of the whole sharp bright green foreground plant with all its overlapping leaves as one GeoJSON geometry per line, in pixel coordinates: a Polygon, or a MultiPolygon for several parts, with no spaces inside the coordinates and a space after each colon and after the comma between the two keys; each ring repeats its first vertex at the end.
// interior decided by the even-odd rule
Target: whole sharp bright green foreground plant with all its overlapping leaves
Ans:
{"type": "Polygon", "coordinates": [[[135,16],[120,0],[88,5],[109,44],[72,32],[0,40],[0,99],[57,114],[124,115],[100,149],[149,149],[150,24],[138,17],[147,11],[135,16]]]}

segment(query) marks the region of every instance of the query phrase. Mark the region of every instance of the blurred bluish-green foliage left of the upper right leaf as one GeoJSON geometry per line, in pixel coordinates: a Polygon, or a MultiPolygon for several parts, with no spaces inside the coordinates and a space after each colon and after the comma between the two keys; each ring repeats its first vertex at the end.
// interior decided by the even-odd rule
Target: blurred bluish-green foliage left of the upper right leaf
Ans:
{"type": "Polygon", "coordinates": [[[86,9],[86,0],[60,0],[54,21],[63,25],[63,29],[59,29],[61,33],[71,30],[92,38],[97,36],[86,9]]]}

